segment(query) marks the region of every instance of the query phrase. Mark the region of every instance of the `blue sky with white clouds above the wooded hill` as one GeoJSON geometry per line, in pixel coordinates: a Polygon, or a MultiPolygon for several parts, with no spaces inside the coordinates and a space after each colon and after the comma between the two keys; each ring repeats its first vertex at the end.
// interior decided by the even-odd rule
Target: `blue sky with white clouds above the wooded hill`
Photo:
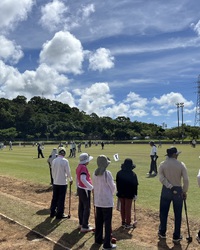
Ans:
{"type": "Polygon", "coordinates": [[[0,98],[194,126],[199,74],[198,0],[0,1],[0,98]]]}

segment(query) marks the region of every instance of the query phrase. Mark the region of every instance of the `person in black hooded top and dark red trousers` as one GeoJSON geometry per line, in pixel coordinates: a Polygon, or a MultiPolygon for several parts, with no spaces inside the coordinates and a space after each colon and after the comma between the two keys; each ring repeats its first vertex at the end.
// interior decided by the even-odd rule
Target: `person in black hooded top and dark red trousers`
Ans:
{"type": "Polygon", "coordinates": [[[138,195],[138,178],[133,171],[135,167],[132,159],[127,158],[116,175],[117,197],[121,204],[122,226],[127,229],[133,227],[131,225],[131,209],[133,199],[136,200],[138,195]]]}

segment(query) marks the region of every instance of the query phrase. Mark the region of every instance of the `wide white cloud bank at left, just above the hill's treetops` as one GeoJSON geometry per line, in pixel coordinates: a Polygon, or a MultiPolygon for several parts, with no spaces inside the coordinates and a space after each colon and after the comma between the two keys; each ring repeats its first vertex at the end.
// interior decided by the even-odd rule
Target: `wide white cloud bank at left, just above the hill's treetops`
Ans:
{"type": "Polygon", "coordinates": [[[67,86],[69,80],[66,76],[45,64],[40,65],[36,71],[26,70],[20,73],[16,68],[5,65],[0,61],[1,96],[5,94],[9,98],[17,95],[25,95],[31,98],[34,95],[44,95],[53,99],[56,93],[60,93],[60,86],[67,86]]]}

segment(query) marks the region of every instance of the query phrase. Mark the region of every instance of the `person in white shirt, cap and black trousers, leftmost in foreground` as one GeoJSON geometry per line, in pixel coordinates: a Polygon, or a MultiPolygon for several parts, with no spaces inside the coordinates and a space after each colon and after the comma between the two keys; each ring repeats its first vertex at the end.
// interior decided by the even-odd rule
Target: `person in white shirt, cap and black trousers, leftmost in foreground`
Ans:
{"type": "Polygon", "coordinates": [[[65,197],[67,192],[68,180],[72,185],[73,179],[69,161],[65,158],[65,148],[58,149],[58,156],[52,162],[52,177],[53,177],[53,197],[50,207],[50,217],[56,216],[56,219],[67,218],[64,214],[65,197]]]}

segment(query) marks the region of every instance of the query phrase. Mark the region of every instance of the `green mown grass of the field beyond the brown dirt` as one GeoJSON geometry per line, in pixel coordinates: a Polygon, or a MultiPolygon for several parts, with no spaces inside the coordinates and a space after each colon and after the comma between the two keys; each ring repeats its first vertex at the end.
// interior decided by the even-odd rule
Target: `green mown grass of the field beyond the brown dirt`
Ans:
{"type": "MultiPolygon", "coordinates": [[[[166,149],[172,145],[162,145],[158,148],[158,165],[165,159],[166,149]]],[[[188,214],[193,218],[199,218],[199,187],[197,185],[197,173],[200,168],[200,149],[199,145],[192,148],[190,145],[176,145],[182,153],[179,160],[183,161],[188,169],[190,186],[187,198],[188,214]]],[[[52,145],[46,145],[44,149],[45,158],[37,158],[37,148],[32,146],[19,147],[14,146],[13,150],[4,148],[0,151],[0,175],[15,177],[18,179],[28,180],[33,183],[49,184],[49,168],[47,158],[53,149],[52,145]]],[[[104,150],[100,146],[84,148],[82,152],[87,152],[94,157],[89,164],[89,171],[92,174],[96,168],[96,158],[100,154],[105,154],[111,159],[109,170],[115,179],[117,171],[120,169],[124,159],[132,158],[136,164],[135,172],[139,180],[138,200],[137,203],[143,208],[149,208],[158,211],[161,184],[158,177],[147,178],[146,173],[149,171],[150,164],[150,146],[148,144],[126,144],[126,145],[105,145],[104,150]],[[120,160],[115,162],[113,155],[119,154],[120,160]]],[[[67,156],[69,148],[67,148],[67,156]]],[[[75,169],[78,164],[78,155],[76,158],[69,158],[72,176],[75,179],[75,169]]],[[[75,184],[72,189],[75,191],[75,184]]]]}

